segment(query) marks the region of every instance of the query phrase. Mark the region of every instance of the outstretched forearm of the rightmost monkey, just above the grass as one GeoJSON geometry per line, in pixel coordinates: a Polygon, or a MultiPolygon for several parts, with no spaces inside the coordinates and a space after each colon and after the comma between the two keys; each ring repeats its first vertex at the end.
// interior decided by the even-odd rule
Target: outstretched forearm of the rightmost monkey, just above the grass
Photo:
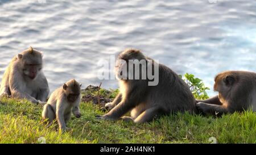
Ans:
{"type": "Polygon", "coordinates": [[[199,102],[196,104],[196,107],[204,112],[205,114],[211,114],[211,115],[221,115],[221,114],[226,114],[229,112],[228,108],[225,106],[220,106],[216,104],[208,104],[208,103],[203,103],[199,102]]]}

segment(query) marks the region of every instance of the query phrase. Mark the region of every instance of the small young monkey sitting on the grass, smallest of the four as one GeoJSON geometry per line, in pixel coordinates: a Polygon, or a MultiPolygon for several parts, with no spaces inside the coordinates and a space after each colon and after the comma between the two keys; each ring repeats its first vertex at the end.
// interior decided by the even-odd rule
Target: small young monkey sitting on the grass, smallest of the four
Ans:
{"type": "Polygon", "coordinates": [[[71,79],[51,94],[47,104],[44,105],[42,117],[48,119],[50,124],[57,119],[59,128],[65,131],[68,129],[66,124],[71,118],[71,112],[76,118],[81,117],[80,102],[81,84],[76,82],[75,79],[71,79]]]}

